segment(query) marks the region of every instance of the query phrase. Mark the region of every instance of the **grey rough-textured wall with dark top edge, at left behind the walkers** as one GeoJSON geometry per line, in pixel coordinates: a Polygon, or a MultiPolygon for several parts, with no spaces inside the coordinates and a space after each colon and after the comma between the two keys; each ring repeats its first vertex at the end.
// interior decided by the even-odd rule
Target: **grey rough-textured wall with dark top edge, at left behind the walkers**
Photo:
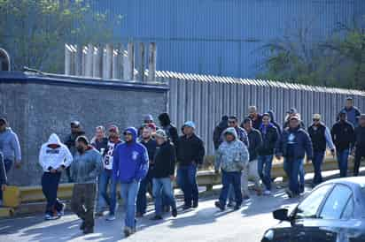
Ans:
{"type": "Polygon", "coordinates": [[[0,73],[0,116],[19,135],[23,167],[12,169],[17,185],[40,183],[38,152],[51,132],[62,139],[72,120],[82,123],[89,139],[97,125],[139,126],[144,114],[167,109],[167,86],[101,79],[71,79],[0,73]]]}

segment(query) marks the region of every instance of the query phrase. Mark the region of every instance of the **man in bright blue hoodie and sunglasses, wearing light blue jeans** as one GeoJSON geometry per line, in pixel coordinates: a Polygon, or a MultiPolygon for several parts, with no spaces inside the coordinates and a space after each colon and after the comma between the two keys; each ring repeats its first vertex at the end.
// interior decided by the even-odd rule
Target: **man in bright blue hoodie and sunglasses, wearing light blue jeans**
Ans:
{"type": "Polygon", "coordinates": [[[113,152],[113,179],[120,182],[126,211],[124,235],[128,237],[136,232],[136,197],[139,184],[147,175],[149,158],[147,149],[137,141],[136,128],[129,127],[123,134],[125,142],[113,152]]]}

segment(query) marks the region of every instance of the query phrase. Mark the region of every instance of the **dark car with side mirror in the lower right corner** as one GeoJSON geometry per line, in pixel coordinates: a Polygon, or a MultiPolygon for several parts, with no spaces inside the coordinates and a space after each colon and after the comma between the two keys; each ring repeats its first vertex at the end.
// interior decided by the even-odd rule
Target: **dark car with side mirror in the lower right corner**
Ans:
{"type": "Polygon", "coordinates": [[[273,212],[280,220],[262,242],[364,242],[365,177],[333,179],[318,185],[292,210],[273,212]]]}

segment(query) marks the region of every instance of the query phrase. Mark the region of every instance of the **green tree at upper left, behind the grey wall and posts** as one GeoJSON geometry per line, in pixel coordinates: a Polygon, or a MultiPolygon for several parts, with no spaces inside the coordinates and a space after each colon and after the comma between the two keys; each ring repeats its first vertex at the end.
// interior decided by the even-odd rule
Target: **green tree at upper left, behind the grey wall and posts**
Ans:
{"type": "MultiPolygon", "coordinates": [[[[0,47],[10,53],[13,70],[62,72],[66,42],[113,42],[107,15],[83,0],[0,0],[0,47]]],[[[121,16],[113,19],[120,24],[121,16]]]]}

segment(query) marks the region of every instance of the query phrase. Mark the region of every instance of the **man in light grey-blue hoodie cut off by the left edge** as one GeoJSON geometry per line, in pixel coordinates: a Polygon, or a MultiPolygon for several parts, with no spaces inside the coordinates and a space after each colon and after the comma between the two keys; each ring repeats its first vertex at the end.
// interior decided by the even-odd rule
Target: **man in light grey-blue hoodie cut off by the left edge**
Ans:
{"type": "MultiPolygon", "coordinates": [[[[0,152],[4,155],[6,173],[11,170],[13,163],[15,163],[16,168],[20,167],[21,153],[18,135],[12,132],[12,128],[9,127],[4,117],[0,117],[0,152]]],[[[0,191],[0,202],[2,200],[3,191],[0,191]]]]}

